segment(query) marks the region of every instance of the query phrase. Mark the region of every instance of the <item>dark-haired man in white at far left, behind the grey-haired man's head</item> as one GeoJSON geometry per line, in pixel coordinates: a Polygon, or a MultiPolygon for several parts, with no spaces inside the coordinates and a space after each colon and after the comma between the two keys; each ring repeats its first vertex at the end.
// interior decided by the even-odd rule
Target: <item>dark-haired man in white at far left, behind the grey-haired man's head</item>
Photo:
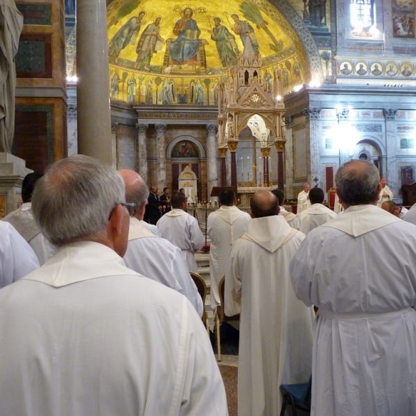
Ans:
{"type": "Polygon", "coordinates": [[[33,190],[35,189],[37,180],[42,176],[42,173],[28,173],[28,175],[24,177],[21,184],[21,199],[23,200],[23,204],[19,209],[10,212],[10,214],[5,216],[2,220],[15,227],[17,232],[19,232],[19,234],[27,241],[28,245],[30,245],[35,252],[40,266],[42,266],[46,260],[50,259],[58,250],[57,247],[45,239],[32,215],[31,200],[33,190]]]}

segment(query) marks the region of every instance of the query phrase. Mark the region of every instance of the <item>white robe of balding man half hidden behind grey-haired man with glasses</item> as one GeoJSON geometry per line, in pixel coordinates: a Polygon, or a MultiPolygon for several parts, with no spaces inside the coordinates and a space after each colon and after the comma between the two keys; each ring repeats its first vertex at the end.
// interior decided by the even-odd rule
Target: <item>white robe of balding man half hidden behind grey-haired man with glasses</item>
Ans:
{"type": "Polygon", "coordinates": [[[130,218],[128,246],[123,260],[125,266],[140,275],[185,295],[202,316],[202,298],[189,275],[180,249],[155,236],[137,218],[130,218]]]}

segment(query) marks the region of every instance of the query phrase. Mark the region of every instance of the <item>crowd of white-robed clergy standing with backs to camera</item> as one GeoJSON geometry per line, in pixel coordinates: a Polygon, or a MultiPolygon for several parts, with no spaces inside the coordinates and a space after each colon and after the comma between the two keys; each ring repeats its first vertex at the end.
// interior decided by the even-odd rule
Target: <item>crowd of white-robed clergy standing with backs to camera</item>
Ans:
{"type": "MultiPolygon", "coordinates": [[[[211,308],[240,313],[239,416],[280,414],[312,376],[311,415],[416,416],[416,205],[374,164],[207,218],[211,308]],[[225,300],[218,285],[225,276],[225,300]]],[[[76,155],[31,173],[0,221],[0,415],[227,416],[204,305],[205,243],[182,192],[76,155]]]]}

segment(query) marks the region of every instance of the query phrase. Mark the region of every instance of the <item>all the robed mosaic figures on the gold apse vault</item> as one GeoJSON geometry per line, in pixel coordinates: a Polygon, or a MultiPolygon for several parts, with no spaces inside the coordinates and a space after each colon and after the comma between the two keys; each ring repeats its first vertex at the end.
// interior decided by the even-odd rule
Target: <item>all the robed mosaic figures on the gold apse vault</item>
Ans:
{"type": "MultiPolygon", "coordinates": [[[[205,46],[206,41],[200,40],[200,29],[195,19],[193,19],[193,9],[191,7],[184,7],[181,10],[182,18],[179,19],[175,27],[173,28],[173,34],[176,39],[166,40],[166,47],[169,53],[169,67],[165,68],[165,73],[174,73],[178,70],[191,70],[195,71],[198,65],[198,51],[200,44],[205,46]],[[204,43],[205,42],[205,43],[204,43]]],[[[141,11],[137,17],[130,17],[128,21],[116,32],[110,41],[108,50],[110,57],[114,58],[117,63],[119,54],[121,51],[135,40],[135,35],[139,33],[141,26],[144,24],[144,18],[146,11],[141,11]]],[[[244,53],[247,55],[259,55],[259,42],[254,33],[254,28],[248,21],[241,20],[239,15],[231,15],[234,20],[234,27],[231,30],[239,35],[243,42],[244,53]]],[[[238,57],[241,53],[239,46],[236,44],[235,36],[230,33],[227,27],[223,26],[220,17],[214,17],[214,28],[209,30],[211,34],[211,40],[216,42],[216,49],[221,60],[223,68],[235,65],[238,57]]],[[[153,23],[148,24],[139,37],[139,41],[136,46],[136,64],[137,69],[144,69],[150,71],[150,62],[153,54],[162,50],[164,39],[160,36],[160,24],[162,17],[156,17],[153,23]]],[[[292,71],[292,78],[295,80],[301,80],[302,73],[300,64],[297,60],[294,60],[293,64],[290,61],[286,61],[286,67],[292,71]]],[[[287,90],[289,85],[289,72],[280,64],[282,76],[284,78],[284,88],[287,90]]],[[[128,73],[119,73],[118,69],[114,70],[110,77],[111,98],[114,100],[124,101],[124,97],[119,94],[119,84],[122,83],[123,87],[127,86],[127,102],[128,103],[141,103],[140,96],[143,96],[144,104],[162,103],[163,105],[170,105],[171,103],[188,103],[188,94],[176,94],[175,81],[171,78],[161,77],[152,78],[148,76],[147,80],[144,80],[144,76],[139,76],[139,94],[137,94],[137,80],[134,73],[128,78],[128,73]],[[154,84],[156,85],[158,92],[154,99],[154,84]],[[162,87],[159,89],[159,85],[162,87]],[[139,95],[139,98],[135,98],[135,95],[139,95]],[[176,96],[179,95],[179,96],[176,96]],[[154,102],[156,101],[156,102],[154,102]]],[[[272,92],[272,75],[265,71],[263,74],[263,80],[266,83],[266,88],[272,92]]],[[[204,80],[205,87],[209,89],[211,80],[206,78],[204,80]]],[[[205,94],[205,87],[202,85],[200,79],[193,79],[189,82],[190,103],[196,105],[214,104],[218,105],[218,87],[219,79],[214,80],[211,86],[211,94],[209,92],[205,94]],[[211,98],[211,99],[210,99],[211,98]]]]}

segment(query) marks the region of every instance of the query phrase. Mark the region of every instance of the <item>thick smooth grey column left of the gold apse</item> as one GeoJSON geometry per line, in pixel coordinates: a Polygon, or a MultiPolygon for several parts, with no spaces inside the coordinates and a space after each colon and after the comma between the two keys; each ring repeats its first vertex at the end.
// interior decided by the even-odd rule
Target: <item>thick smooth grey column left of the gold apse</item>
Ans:
{"type": "Polygon", "coordinates": [[[78,153],[112,165],[105,0],[76,4],[78,153]]]}

